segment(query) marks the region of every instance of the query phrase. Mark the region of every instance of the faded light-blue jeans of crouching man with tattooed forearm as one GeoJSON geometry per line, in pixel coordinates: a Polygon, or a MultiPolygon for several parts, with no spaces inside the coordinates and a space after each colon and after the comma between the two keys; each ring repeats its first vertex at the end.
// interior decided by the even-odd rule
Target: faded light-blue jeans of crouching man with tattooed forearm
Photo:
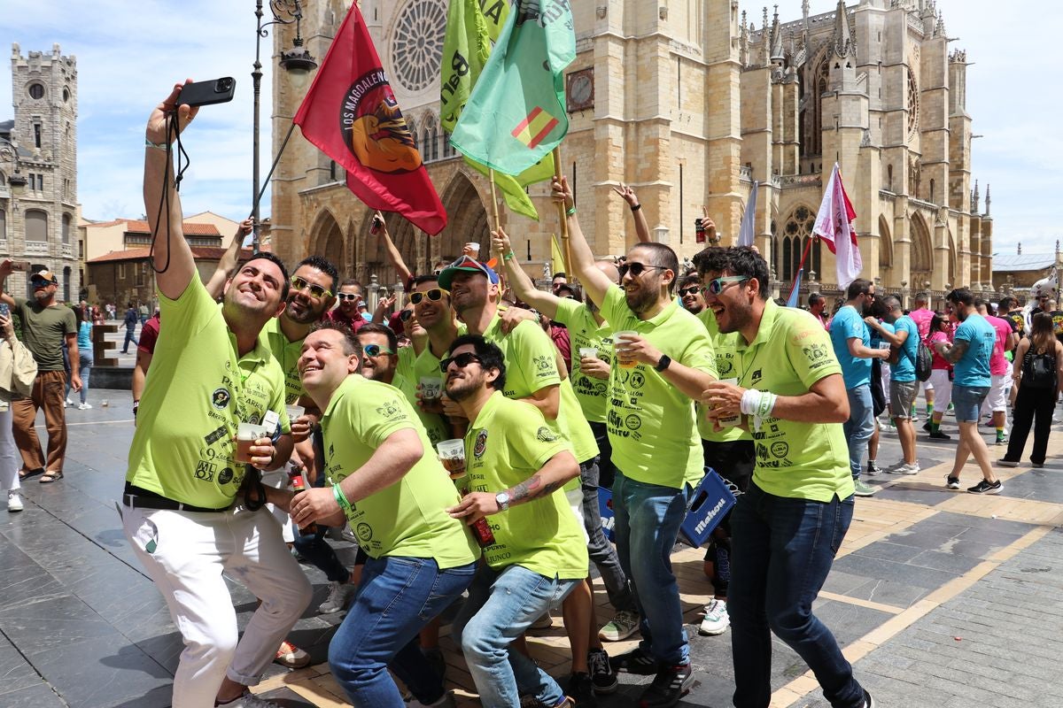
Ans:
{"type": "Polygon", "coordinates": [[[453,636],[484,708],[519,706],[521,695],[534,695],[544,706],[564,698],[557,681],[510,644],[583,582],[546,577],[522,566],[501,572],[487,564],[479,567],[454,620],[453,636]]]}

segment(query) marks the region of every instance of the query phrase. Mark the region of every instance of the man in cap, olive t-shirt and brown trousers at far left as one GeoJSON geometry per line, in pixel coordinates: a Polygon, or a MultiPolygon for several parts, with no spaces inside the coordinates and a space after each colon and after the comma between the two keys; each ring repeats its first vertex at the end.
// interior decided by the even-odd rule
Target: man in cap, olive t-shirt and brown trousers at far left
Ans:
{"type": "MultiPolygon", "coordinates": [[[[12,261],[0,263],[0,288],[11,275],[12,261]]],[[[66,367],[63,366],[63,341],[66,340],[70,361],[78,361],[78,318],[73,310],[55,298],[58,279],[50,271],[38,271],[30,276],[33,300],[13,297],[3,293],[0,301],[22,321],[22,339],[37,362],[37,378],[29,398],[11,402],[14,418],[15,444],[22,453],[19,477],[26,479],[41,474],[46,484],[63,479],[63,457],[66,455],[66,367]],[[34,422],[37,410],[45,409],[45,428],[48,430],[48,457],[40,449],[40,438],[34,422]]],[[[78,367],[70,368],[70,387],[81,391],[78,367]]]]}

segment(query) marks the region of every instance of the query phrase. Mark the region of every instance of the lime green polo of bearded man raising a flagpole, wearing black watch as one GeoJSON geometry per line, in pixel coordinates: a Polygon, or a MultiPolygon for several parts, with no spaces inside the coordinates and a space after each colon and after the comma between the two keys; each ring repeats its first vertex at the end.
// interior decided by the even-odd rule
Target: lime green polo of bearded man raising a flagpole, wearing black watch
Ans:
{"type": "MultiPolygon", "coordinates": [[[[602,314],[613,331],[634,330],[672,361],[716,376],[716,358],[705,326],[672,300],[655,317],[639,320],[624,291],[610,286],[602,314]]],[[[682,488],[705,476],[694,401],[654,370],[638,364],[622,368],[613,358],[609,373],[606,428],[612,462],[626,477],[646,484],[682,488]]]]}

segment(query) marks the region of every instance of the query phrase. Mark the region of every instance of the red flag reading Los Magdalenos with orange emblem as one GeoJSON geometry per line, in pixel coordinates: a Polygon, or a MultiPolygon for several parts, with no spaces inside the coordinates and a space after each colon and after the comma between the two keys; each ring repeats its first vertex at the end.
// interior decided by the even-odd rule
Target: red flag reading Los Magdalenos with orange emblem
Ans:
{"type": "Polygon", "coordinates": [[[294,123],[347,170],[348,188],[368,207],[398,211],[432,235],[446,226],[357,3],[343,18],[294,123]]]}

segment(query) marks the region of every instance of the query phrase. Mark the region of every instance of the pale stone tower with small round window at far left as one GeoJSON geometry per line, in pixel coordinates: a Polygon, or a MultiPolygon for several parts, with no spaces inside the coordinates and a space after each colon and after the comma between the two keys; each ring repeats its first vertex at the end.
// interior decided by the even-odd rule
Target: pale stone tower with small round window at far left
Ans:
{"type": "MultiPolygon", "coordinates": [[[[28,260],[60,278],[60,296],[82,288],[78,241],[78,62],[51,53],[11,52],[14,120],[0,123],[0,257],[28,260]]],[[[28,293],[12,275],[10,292],[28,293]]]]}

